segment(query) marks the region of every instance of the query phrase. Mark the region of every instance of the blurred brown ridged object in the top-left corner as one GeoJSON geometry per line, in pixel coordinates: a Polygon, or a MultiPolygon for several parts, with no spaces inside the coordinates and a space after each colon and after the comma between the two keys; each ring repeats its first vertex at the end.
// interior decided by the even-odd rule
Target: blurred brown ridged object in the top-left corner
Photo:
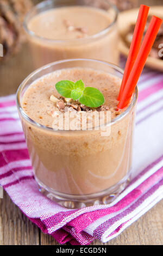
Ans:
{"type": "Polygon", "coordinates": [[[31,0],[0,0],[0,44],[3,45],[0,62],[17,53],[26,41],[22,22],[32,6],[31,0]]]}

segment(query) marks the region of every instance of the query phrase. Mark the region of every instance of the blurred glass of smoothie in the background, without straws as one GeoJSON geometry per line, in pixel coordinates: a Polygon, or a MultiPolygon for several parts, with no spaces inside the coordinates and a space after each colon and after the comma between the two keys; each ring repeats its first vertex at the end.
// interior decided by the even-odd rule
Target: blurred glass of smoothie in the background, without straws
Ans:
{"type": "Polygon", "coordinates": [[[105,0],[49,0],[36,5],[24,19],[35,69],[66,58],[117,65],[117,16],[116,7],[105,0]]]}

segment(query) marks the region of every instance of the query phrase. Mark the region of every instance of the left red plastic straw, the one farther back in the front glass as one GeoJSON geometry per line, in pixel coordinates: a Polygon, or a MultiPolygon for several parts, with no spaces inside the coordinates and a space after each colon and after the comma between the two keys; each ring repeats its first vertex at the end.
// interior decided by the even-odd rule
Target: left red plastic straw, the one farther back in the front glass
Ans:
{"type": "Polygon", "coordinates": [[[126,66],[125,66],[124,74],[123,74],[123,79],[122,79],[122,83],[121,83],[121,88],[120,88],[120,92],[118,94],[117,100],[121,99],[123,89],[125,87],[125,84],[128,80],[131,69],[133,68],[137,54],[139,52],[141,40],[142,40],[142,36],[143,36],[143,31],[145,29],[145,25],[146,25],[146,21],[147,21],[148,11],[149,11],[148,6],[143,5],[143,4],[140,5],[139,14],[137,16],[136,25],[135,25],[135,29],[134,29],[133,39],[131,41],[128,58],[127,58],[127,62],[126,62],[126,66]]]}

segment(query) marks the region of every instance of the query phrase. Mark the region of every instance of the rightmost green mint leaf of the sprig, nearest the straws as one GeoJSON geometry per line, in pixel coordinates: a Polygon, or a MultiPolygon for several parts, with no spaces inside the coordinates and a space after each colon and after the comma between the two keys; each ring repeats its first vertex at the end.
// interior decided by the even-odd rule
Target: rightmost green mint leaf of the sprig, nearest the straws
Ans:
{"type": "Polygon", "coordinates": [[[96,88],[86,87],[79,102],[87,107],[99,107],[104,103],[103,94],[96,88]]]}

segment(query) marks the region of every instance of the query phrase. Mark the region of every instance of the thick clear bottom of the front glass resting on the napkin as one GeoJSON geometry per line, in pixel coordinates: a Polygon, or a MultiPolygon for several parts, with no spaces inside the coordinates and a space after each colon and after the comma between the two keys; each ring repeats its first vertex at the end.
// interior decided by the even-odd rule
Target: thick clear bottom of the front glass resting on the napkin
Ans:
{"type": "Polygon", "coordinates": [[[77,209],[84,208],[86,206],[109,204],[115,200],[115,198],[126,188],[130,178],[125,176],[118,184],[108,188],[107,190],[85,195],[72,195],[64,194],[53,190],[53,188],[47,187],[40,180],[35,177],[39,191],[46,197],[50,198],[54,202],[69,208],[77,209]]]}

